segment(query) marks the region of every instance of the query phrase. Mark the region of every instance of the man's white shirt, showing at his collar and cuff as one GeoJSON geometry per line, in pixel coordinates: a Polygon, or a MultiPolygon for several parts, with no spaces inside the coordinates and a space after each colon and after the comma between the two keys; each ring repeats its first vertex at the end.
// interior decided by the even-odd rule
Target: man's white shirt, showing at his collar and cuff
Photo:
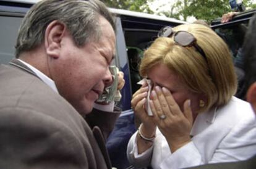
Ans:
{"type": "MultiPolygon", "coordinates": [[[[56,93],[58,92],[58,89],[54,83],[53,80],[51,80],[48,76],[46,76],[44,73],[40,72],[37,68],[33,67],[32,65],[28,64],[27,62],[24,62],[23,60],[18,59],[22,64],[26,65],[28,68],[30,68],[36,75],[46,83],[51,89],[53,89],[56,93]]],[[[114,102],[109,103],[108,105],[101,105],[94,103],[93,107],[98,110],[102,110],[105,112],[113,112],[114,110],[114,102]]]]}

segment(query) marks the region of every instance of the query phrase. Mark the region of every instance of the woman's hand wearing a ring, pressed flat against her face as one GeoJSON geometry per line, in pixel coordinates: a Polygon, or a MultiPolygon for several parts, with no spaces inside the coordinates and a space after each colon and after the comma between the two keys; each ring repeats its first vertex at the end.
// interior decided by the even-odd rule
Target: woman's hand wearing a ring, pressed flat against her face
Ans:
{"type": "Polygon", "coordinates": [[[168,141],[171,152],[190,142],[190,130],[193,124],[190,100],[184,102],[184,112],[182,112],[171,92],[159,86],[151,92],[151,99],[153,121],[168,141]]]}

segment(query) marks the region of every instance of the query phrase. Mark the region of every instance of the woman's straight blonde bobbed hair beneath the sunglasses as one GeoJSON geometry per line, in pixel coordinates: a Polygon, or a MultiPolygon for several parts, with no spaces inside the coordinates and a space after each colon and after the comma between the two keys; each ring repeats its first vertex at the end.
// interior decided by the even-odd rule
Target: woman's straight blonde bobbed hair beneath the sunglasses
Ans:
{"type": "Polygon", "coordinates": [[[147,76],[150,68],[164,64],[184,82],[189,91],[207,97],[202,112],[226,104],[236,93],[237,77],[229,48],[211,28],[199,24],[184,24],[174,31],[188,31],[197,39],[207,59],[195,47],[182,47],[171,38],[157,38],[144,52],[140,75],[147,76]]]}

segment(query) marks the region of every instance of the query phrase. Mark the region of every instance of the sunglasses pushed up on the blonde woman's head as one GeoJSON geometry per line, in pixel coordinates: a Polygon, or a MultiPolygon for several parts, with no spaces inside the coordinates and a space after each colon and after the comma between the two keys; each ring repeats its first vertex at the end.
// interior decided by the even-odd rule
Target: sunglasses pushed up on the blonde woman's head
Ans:
{"type": "Polygon", "coordinates": [[[194,46],[195,49],[203,56],[205,61],[208,64],[207,57],[205,56],[205,52],[203,52],[203,49],[198,46],[197,39],[195,39],[195,36],[187,31],[174,31],[171,27],[163,27],[158,32],[158,37],[168,37],[171,38],[173,36],[174,43],[178,44],[179,46],[183,47],[190,47],[194,46]]]}

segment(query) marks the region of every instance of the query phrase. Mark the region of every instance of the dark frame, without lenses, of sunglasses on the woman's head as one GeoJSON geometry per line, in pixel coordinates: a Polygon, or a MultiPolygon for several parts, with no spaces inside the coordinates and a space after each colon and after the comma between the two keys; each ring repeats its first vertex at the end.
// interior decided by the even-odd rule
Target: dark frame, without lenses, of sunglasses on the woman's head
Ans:
{"type": "Polygon", "coordinates": [[[195,38],[194,35],[192,35],[192,33],[189,33],[188,31],[174,31],[172,27],[169,27],[169,26],[166,26],[166,27],[163,27],[161,28],[160,31],[158,31],[158,38],[159,37],[166,37],[166,38],[171,38],[173,36],[173,40],[174,40],[174,43],[179,45],[179,46],[182,46],[182,47],[191,47],[191,46],[194,46],[195,49],[201,54],[201,56],[203,56],[203,59],[205,59],[205,61],[207,62],[208,64],[208,60],[207,60],[207,57],[205,55],[205,52],[203,51],[202,47],[200,47],[198,44],[197,44],[197,39],[195,38]],[[168,30],[171,30],[170,33],[168,33],[168,35],[164,35],[164,29],[168,29],[168,30]],[[176,41],[176,38],[175,36],[180,33],[180,32],[184,32],[184,33],[187,33],[189,34],[193,39],[190,43],[188,44],[181,44],[179,43],[178,41],[176,41]]]}

